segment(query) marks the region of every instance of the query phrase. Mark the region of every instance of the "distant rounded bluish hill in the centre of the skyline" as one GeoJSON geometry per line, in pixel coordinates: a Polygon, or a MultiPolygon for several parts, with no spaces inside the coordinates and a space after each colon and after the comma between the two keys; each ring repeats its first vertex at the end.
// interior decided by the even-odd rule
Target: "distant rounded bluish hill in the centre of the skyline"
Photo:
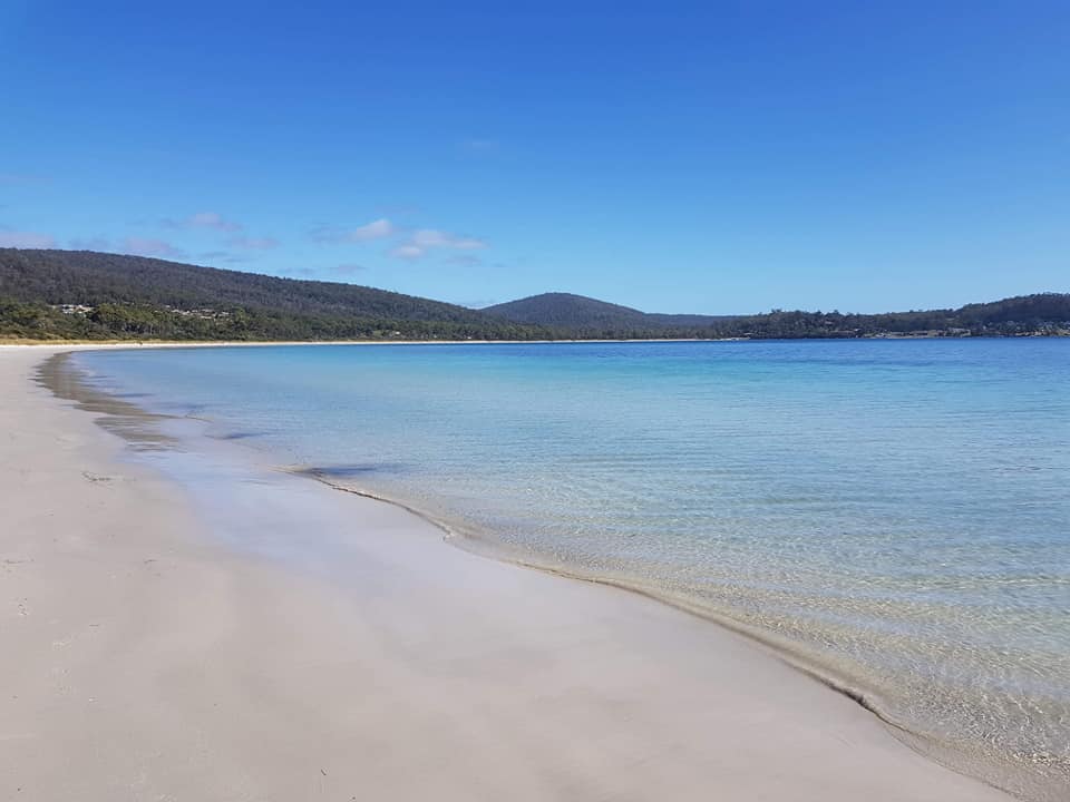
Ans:
{"type": "Polygon", "coordinates": [[[514,323],[585,331],[694,329],[732,320],[712,315],[652,314],[571,293],[532,295],[487,306],[483,312],[514,323]]]}

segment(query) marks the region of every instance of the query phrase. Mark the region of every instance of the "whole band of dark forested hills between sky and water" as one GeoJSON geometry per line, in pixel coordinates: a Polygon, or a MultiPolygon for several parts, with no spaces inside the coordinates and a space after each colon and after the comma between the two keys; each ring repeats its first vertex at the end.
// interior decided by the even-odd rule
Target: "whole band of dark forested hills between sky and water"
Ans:
{"type": "Polygon", "coordinates": [[[1070,334],[1070,294],[957,310],[650,314],[566,293],[485,310],[356,286],[89,251],[0,248],[0,338],[562,340],[1070,334]]]}

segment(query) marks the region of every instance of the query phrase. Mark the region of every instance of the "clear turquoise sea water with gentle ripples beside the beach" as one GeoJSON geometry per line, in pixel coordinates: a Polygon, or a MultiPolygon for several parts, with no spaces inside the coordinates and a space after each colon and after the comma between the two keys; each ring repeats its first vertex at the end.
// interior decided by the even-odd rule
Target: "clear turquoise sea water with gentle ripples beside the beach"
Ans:
{"type": "Polygon", "coordinates": [[[743,629],[956,767],[1070,789],[1070,340],[74,359],[470,548],[743,629]]]}

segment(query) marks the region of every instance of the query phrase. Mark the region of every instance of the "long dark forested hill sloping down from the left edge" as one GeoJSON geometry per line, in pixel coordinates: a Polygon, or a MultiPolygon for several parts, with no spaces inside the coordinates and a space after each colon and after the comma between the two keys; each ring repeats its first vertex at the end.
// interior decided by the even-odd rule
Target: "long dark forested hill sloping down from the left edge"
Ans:
{"type": "Polygon", "coordinates": [[[0,248],[0,333],[178,340],[533,339],[475,310],[352,284],[91,251],[0,248]]]}

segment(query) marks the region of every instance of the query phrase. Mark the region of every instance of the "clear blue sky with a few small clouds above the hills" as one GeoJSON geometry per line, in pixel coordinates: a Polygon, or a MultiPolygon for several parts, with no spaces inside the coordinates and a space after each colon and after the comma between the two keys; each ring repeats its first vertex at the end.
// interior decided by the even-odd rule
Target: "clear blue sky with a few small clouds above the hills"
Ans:
{"type": "Polygon", "coordinates": [[[0,0],[0,244],[467,305],[1070,291],[1066,0],[0,0]]]}

